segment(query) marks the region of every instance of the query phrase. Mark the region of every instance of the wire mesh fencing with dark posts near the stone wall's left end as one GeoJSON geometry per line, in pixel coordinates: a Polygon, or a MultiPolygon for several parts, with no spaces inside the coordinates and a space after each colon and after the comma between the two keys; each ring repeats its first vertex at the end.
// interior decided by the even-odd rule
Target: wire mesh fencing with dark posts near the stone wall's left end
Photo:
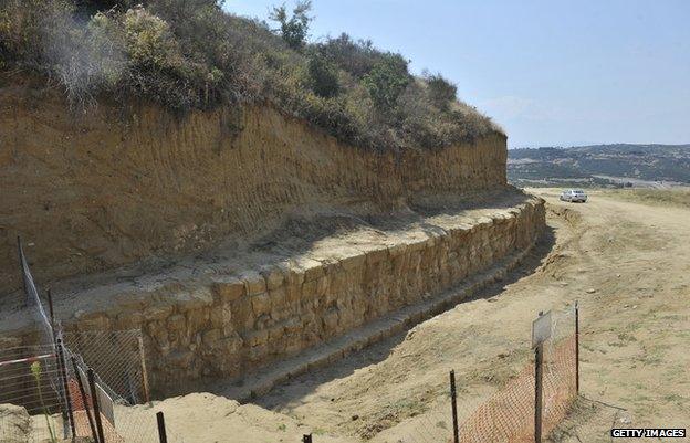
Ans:
{"type": "MultiPolygon", "coordinates": [[[[156,443],[139,330],[63,334],[19,243],[39,344],[0,349],[0,442],[156,443]]],[[[49,294],[50,300],[50,294],[49,294]]],[[[167,442],[184,443],[167,433],[167,442]]]]}

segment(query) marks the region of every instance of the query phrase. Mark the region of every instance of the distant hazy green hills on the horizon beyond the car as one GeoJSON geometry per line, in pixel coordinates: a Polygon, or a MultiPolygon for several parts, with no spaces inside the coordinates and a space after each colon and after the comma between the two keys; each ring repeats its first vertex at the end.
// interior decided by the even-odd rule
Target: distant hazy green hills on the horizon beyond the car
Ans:
{"type": "Polygon", "coordinates": [[[690,184],[690,145],[592,145],[510,149],[515,186],[667,187],[690,184]]]}

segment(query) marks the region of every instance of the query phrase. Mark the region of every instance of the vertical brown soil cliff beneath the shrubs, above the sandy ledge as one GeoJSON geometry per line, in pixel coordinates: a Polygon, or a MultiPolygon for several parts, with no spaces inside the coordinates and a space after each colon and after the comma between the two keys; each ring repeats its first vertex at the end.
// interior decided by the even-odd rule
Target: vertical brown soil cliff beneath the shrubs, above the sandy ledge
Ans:
{"type": "Polygon", "coordinates": [[[17,235],[48,282],[252,240],[295,214],[376,214],[506,183],[498,133],[370,152],[270,107],[75,115],[45,80],[18,75],[0,75],[0,294],[20,284],[17,235]]]}

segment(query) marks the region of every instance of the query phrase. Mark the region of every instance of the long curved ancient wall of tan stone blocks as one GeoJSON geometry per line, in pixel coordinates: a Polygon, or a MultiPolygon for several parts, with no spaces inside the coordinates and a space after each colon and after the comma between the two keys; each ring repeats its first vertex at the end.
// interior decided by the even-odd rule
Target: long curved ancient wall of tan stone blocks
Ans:
{"type": "Polygon", "coordinates": [[[158,394],[205,378],[232,378],[293,356],[404,306],[437,296],[527,250],[544,226],[540,199],[425,240],[332,263],[212,275],[168,285],[104,312],[81,313],[75,330],[142,328],[158,394]]]}

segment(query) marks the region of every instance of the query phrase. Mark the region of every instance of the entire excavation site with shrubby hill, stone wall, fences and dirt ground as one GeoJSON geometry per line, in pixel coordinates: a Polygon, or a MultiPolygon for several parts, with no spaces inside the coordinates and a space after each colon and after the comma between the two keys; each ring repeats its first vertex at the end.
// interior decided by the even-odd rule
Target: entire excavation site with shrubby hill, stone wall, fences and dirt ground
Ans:
{"type": "Polygon", "coordinates": [[[509,183],[504,128],[314,4],[0,4],[0,443],[687,424],[687,191],[509,183]]]}

